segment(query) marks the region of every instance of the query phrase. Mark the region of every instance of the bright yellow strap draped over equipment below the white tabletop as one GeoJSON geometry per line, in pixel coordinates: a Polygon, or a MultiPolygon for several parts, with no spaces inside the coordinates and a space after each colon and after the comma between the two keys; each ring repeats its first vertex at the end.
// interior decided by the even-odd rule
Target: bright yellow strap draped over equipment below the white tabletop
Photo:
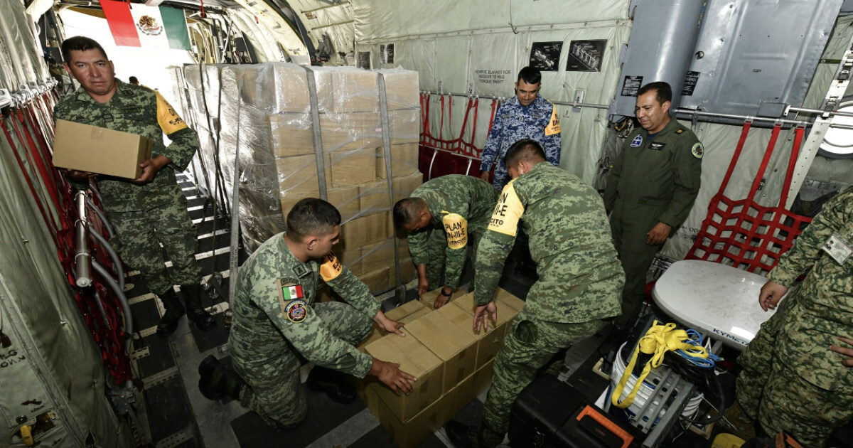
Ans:
{"type": "Polygon", "coordinates": [[[694,358],[708,358],[708,352],[705,350],[705,347],[694,346],[693,344],[684,342],[684,340],[689,339],[688,332],[683,329],[676,329],[675,323],[658,325],[658,321],[654,321],[652,323],[652,328],[648,329],[646,335],[640,339],[640,342],[634,349],[631,361],[628,363],[628,367],[625,368],[622,378],[619,380],[616,389],[613,391],[610,399],[611,403],[620,409],[625,409],[630,406],[631,403],[634,403],[634,398],[637,395],[637,391],[640,390],[642,382],[646,379],[646,376],[648,376],[648,373],[653,368],[663,364],[664,354],[666,354],[666,352],[682,350],[686,355],[694,358]],[[619,397],[622,396],[625,384],[628,383],[631,372],[634,371],[637,355],[639,355],[641,351],[647,355],[652,355],[652,359],[649,359],[646,365],[643,366],[640,377],[635,381],[634,388],[631,390],[631,393],[628,394],[628,397],[625,397],[622,403],[619,403],[619,397]]]}

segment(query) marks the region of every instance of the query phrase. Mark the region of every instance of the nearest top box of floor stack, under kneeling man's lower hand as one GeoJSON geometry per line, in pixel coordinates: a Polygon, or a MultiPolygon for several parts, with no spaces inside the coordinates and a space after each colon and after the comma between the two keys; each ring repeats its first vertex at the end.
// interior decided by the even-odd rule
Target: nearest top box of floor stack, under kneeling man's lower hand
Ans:
{"type": "Polygon", "coordinates": [[[376,386],[380,399],[401,421],[406,422],[441,397],[444,365],[419,340],[410,335],[386,335],[368,344],[365,352],[382,361],[398,363],[401,370],[417,378],[408,395],[397,395],[382,384],[376,386]]]}

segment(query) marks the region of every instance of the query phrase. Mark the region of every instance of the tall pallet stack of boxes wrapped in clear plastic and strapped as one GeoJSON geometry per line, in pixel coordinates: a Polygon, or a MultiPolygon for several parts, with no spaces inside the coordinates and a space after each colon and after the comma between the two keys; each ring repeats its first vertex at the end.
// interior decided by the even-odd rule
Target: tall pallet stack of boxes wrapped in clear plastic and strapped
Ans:
{"type": "MultiPolygon", "coordinates": [[[[200,159],[212,185],[233,195],[239,156],[239,218],[252,252],[284,230],[287,212],[305,197],[320,197],[315,123],[309,79],[316,84],[316,128],[328,201],[343,218],[335,247],[374,292],[392,288],[393,201],[422,182],[418,172],[421,110],[418,74],[353,67],[301,67],[271,62],[183,69],[200,138],[200,159]],[[386,88],[392,195],[383,143],[379,81],[386,88]]],[[[401,278],[414,276],[405,240],[397,241],[401,278]]]]}

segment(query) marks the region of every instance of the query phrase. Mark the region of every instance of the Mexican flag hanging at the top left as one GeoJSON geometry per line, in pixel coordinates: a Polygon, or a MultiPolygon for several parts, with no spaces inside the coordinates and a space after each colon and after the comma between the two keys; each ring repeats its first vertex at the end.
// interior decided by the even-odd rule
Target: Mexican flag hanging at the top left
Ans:
{"type": "Polygon", "coordinates": [[[190,49],[183,9],[102,0],[101,8],[116,45],[190,49]]]}

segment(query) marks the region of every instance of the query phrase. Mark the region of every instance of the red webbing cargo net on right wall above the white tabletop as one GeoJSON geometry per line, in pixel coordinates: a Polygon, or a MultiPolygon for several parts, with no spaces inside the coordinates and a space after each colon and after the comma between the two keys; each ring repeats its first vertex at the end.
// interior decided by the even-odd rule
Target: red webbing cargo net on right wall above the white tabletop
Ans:
{"type": "Polygon", "coordinates": [[[750,121],[744,123],[738,146],[734,150],[734,157],[728,165],[726,176],[722,179],[720,190],[711,199],[708,216],[702,222],[699,235],[696,236],[696,241],[693,242],[693,247],[690,248],[685,259],[714,261],[763,275],[773,269],[780,255],[793,246],[794,239],[803,230],[805,224],[811,222],[811,218],[785,209],[800,143],[803,142],[804,128],[798,126],[795,131],[791,159],[788,161],[779,204],[776,207],[763,207],[758,205],[754,198],[762,184],[770,156],[773,155],[781,125],[777,124],[773,127],[770,142],[767,144],[764,159],[752,181],[749,195],[744,199],[734,200],[724,194],[734,172],[734,166],[737,165],[740,153],[743,151],[750,126],[750,121]]]}

